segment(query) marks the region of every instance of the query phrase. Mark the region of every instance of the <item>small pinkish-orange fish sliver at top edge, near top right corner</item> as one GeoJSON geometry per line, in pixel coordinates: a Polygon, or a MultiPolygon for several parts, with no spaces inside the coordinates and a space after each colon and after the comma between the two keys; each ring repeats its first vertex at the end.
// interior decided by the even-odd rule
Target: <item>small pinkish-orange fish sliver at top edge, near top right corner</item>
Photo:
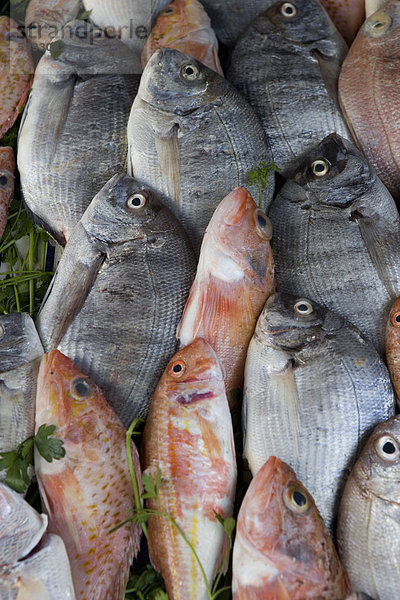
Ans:
{"type": "Polygon", "coordinates": [[[365,0],[320,0],[350,46],[365,20],[365,0]]]}

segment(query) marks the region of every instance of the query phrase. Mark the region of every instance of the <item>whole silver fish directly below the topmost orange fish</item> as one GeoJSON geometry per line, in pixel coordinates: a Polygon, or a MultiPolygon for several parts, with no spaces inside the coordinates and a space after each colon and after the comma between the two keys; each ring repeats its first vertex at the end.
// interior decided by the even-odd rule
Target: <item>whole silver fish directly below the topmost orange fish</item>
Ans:
{"type": "MultiPolygon", "coordinates": [[[[153,54],[129,116],[128,173],[161,195],[197,255],[221,198],[271,161],[257,116],[226,79],[179,50],[153,54]]],[[[261,188],[266,209],[273,171],[261,188]]],[[[256,183],[249,191],[258,197],[256,183]]]]}

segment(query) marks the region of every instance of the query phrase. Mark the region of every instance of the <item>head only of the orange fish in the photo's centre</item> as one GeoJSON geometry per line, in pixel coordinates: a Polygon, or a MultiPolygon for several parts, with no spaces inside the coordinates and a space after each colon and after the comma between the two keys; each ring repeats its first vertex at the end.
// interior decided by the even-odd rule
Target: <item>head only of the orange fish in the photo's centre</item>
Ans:
{"type": "Polygon", "coordinates": [[[235,188],[218,205],[204,236],[199,269],[223,281],[246,277],[266,286],[272,260],[272,224],[250,192],[235,188]]]}

